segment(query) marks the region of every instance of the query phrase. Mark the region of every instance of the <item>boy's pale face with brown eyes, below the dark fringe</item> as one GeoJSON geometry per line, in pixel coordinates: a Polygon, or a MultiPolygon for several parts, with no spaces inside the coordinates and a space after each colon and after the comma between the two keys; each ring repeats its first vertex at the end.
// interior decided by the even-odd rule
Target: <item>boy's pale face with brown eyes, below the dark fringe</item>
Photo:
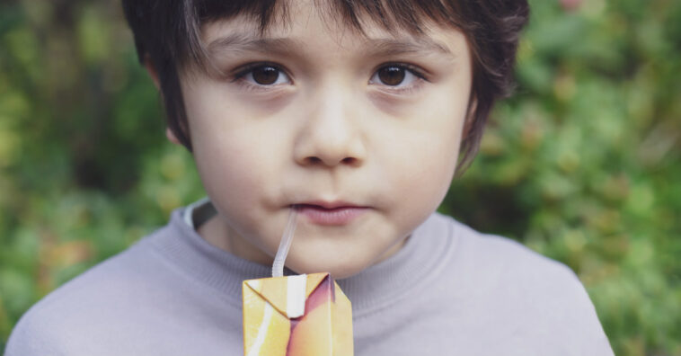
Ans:
{"type": "Polygon", "coordinates": [[[301,205],[287,266],[343,278],[394,254],[443,200],[471,92],[464,35],[367,37],[290,2],[264,37],[205,26],[224,76],[181,76],[199,174],[219,214],[201,234],[271,263],[301,205]],[[330,209],[336,208],[336,209],[330,209]]]}

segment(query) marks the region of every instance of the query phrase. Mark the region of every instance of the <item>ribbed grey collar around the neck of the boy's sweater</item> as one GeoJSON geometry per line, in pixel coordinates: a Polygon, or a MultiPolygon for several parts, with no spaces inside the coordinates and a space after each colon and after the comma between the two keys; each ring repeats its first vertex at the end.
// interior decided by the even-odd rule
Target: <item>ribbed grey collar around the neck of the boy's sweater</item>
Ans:
{"type": "MultiPolygon", "coordinates": [[[[146,242],[190,278],[217,289],[240,306],[242,281],[270,277],[271,266],[252,263],[208,244],[186,224],[182,214],[182,208],[175,209],[168,225],[146,242]]],[[[352,302],[355,317],[389,306],[443,272],[455,248],[454,225],[447,219],[437,213],[431,215],[397,254],[355,276],[338,280],[352,302]]]]}

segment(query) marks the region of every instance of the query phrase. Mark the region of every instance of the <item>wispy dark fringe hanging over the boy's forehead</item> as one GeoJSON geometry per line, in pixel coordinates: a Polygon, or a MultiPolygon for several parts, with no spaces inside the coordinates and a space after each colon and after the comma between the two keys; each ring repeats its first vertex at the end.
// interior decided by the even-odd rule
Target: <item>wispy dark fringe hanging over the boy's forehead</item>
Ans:
{"type": "MultiPolygon", "coordinates": [[[[245,16],[258,24],[261,36],[273,24],[288,26],[291,22],[288,4],[298,0],[187,0],[182,23],[186,40],[177,43],[175,60],[184,65],[206,68],[207,53],[201,40],[201,28],[210,22],[245,16]]],[[[441,0],[311,0],[320,16],[366,35],[367,22],[386,31],[407,31],[417,35],[425,22],[457,28],[457,9],[441,0]]]]}

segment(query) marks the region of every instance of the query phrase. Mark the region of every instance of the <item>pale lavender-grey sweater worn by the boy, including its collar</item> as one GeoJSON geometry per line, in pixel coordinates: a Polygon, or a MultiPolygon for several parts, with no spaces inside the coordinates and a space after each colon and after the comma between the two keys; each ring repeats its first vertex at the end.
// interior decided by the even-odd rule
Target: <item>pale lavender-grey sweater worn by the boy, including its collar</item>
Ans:
{"type": "MultiPolygon", "coordinates": [[[[270,266],[209,245],[182,211],[32,307],[6,356],[243,354],[242,280],[270,266]]],[[[442,215],[339,284],[356,356],[613,354],[570,269],[442,215]]]]}

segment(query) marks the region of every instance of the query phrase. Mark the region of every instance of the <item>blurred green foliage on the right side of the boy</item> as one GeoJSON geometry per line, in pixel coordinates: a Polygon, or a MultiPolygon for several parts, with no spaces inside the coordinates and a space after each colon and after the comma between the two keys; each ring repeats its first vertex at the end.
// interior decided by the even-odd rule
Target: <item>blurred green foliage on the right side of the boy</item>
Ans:
{"type": "Polygon", "coordinates": [[[517,95],[442,209],[567,263],[619,355],[680,355],[681,6],[533,2],[517,95]]]}

